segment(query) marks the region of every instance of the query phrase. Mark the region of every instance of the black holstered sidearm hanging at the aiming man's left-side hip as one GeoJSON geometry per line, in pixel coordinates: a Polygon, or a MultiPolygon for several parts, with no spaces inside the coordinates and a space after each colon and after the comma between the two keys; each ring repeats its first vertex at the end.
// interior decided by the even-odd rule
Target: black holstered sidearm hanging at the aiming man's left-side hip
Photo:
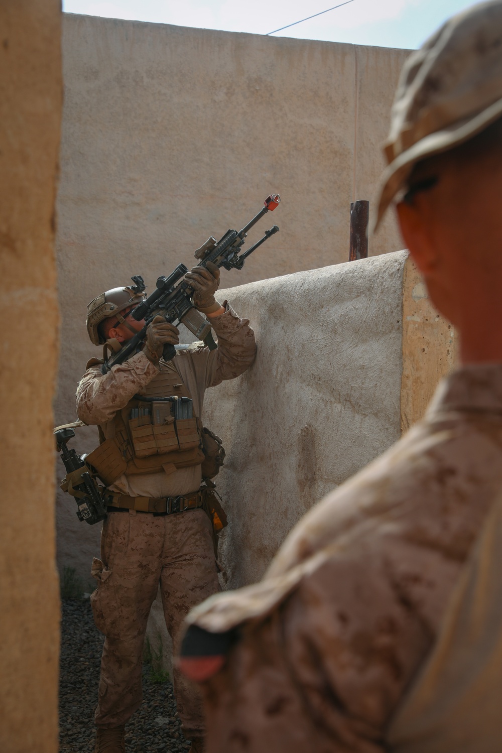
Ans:
{"type": "Polygon", "coordinates": [[[68,450],[68,439],[75,437],[72,428],[60,428],[54,432],[56,449],[61,452],[62,462],[65,464],[66,475],[61,482],[63,492],[75,497],[78,505],[78,520],[85,520],[90,526],[99,523],[106,517],[105,487],[100,486],[90,473],[90,468],[84,462],[85,456],[78,455],[75,450],[68,450]]]}

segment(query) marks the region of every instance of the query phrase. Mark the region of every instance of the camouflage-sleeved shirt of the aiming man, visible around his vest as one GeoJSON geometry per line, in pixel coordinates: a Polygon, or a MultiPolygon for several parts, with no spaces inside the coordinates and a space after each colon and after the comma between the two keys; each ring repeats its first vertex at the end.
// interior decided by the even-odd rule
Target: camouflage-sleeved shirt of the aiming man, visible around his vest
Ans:
{"type": "MultiPolygon", "coordinates": [[[[224,302],[226,311],[211,319],[218,336],[218,349],[205,347],[181,350],[173,364],[181,379],[190,390],[196,416],[202,414],[204,392],[224,380],[239,377],[254,361],[256,343],[248,319],[239,319],[233,309],[224,302]]],[[[129,361],[112,367],[102,374],[99,366],[91,366],[84,373],[77,388],[77,414],[81,421],[90,425],[106,425],[129,402],[136,392],[148,385],[159,370],[148,361],[142,352],[129,361]]],[[[172,474],[163,472],[141,475],[123,475],[111,489],[129,496],[161,498],[187,494],[199,489],[200,465],[178,468],[172,474]]]]}

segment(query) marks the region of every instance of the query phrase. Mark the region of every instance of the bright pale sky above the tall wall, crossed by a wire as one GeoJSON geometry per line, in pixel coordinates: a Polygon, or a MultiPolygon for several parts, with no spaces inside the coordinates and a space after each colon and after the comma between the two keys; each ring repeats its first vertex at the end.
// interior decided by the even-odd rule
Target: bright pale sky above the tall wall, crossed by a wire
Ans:
{"type": "MultiPolygon", "coordinates": [[[[343,0],[63,0],[67,13],[269,34],[343,0]]],[[[415,49],[473,0],[351,0],[274,36],[415,49]]]]}

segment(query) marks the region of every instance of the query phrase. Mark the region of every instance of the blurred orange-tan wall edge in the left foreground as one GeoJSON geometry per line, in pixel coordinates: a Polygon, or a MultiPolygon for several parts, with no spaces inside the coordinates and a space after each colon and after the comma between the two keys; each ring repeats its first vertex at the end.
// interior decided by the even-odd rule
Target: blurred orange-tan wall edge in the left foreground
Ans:
{"type": "Polygon", "coordinates": [[[0,4],[0,750],[57,750],[52,399],[59,0],[0,4]]]}

